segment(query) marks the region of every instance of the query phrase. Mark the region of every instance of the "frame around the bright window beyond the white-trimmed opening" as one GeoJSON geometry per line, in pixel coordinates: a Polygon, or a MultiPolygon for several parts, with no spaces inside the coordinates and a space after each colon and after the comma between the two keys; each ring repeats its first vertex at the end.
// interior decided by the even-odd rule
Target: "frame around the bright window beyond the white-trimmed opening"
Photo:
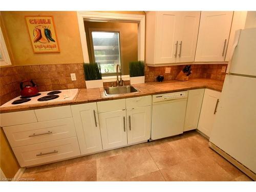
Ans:
{"type": "MultiPolygon", "coordinates": [[[[95,62],[95,54],[94,54],[94,48],[93,48],[93,38],[92,38],[92,32],[118,32],[119,33],[119,57],[120,57],[120,67],[122,71],[122,63],[123,63],[123,58],[122,58],[122,45],[121,45],[121,30],[120,29],[111,29],[111,28],[89,28],[89,39],[90,39],[90,49],[91,49],[91,54],[92,54],[92,60],[95,62]]],[[[114,76],[116,73],[102,73],[102,77],[107,77],[107,76],[114,76]]],[[[123,75],[123,74],[122,74],[123,75]]]]}

